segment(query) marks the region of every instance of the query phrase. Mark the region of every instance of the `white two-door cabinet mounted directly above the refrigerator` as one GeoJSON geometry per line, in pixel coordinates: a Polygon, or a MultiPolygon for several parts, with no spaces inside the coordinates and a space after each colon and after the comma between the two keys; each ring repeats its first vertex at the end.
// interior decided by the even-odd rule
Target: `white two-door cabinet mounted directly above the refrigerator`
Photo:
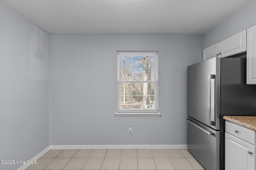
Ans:
{"type": "Polygon", "coordinates": [[[222,58],[246,51],[246,30],[241,31],[203,50],[203,60],[222,58]]]}

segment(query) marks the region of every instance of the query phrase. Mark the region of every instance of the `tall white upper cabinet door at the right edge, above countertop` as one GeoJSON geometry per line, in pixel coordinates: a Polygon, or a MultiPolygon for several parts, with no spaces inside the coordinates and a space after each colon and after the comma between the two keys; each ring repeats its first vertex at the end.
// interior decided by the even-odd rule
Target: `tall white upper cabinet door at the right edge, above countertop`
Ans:
{"type": "Polygon", "coordinates": [[[256,25],[247,29],[246,84],[256,84],[256,25]]]}

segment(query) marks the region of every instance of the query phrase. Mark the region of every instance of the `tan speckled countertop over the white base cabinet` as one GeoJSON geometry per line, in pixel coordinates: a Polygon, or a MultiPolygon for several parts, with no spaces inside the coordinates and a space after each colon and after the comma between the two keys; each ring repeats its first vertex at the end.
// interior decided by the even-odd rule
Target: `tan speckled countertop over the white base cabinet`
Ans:
{"type": "Polygon", "coordinates": [[[223,116],[223,119],[256,131],[256,116],[223,116]]]}

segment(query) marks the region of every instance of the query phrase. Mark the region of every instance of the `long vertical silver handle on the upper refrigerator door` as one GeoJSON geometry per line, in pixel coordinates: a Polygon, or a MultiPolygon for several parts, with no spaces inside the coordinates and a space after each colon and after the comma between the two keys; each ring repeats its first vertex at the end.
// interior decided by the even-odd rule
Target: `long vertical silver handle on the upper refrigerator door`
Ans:
{"type": "Polygon", "coordinates": [[[215,75],[208,75],[209,124],[215,125],[215,75]]]}

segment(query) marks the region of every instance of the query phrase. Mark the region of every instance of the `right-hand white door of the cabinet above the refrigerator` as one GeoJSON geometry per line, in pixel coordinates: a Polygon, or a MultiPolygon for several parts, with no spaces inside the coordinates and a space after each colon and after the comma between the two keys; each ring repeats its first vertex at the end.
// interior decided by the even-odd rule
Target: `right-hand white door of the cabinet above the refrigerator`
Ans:
{"type": "Polygon", "coordinates": [[[220,55],[218,57],[228,57],[244,51],[246,51],[246,30],[220,41],[220,55]]]}

